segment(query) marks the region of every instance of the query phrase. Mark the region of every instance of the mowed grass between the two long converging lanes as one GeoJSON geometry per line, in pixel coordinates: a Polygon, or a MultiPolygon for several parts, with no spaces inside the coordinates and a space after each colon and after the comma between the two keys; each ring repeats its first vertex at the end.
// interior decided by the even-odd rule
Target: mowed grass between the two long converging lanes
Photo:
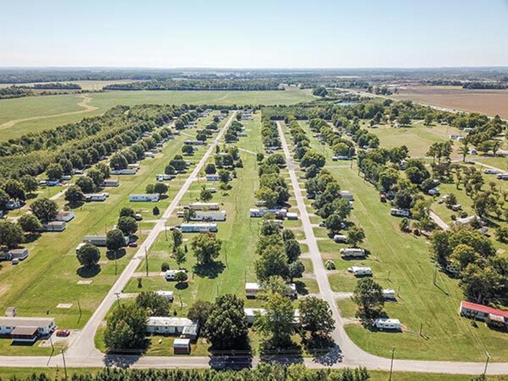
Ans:
{"type": "MultiPolygon", "coordinates": [[[[260,218],[250,218],[249,208],[255,206],[257,199],[254,192],[259,187],[257,174],[258,163],[255,152],[262,151],[261,146],[261,124],[260,113],[255,115],[252,121],[242,121],[245,126],[247,137],[240,138],[236,146],[240,149],[243,168],[236,169],[236,178],[230,184],[232,188],[228,191],[218,190],[210,202],[218,202],[219,209],[225,210],[227,219],[217,223],[217,237],[223,241],[220,256],[208,266],[197,265],[197,261],[190,248],[190,241],[196,234],[185,233],[183,244],[188,247],[186,262],[182,265],[187,269],[189,280],[185,283],[168,282],[161,273],[161,265],[168,263],[171,269],[178,268],[175,260],[171,257],[172,234],[170,228],[179,225],[182,219],[173,214],[167,220],[167,231],[160,233],[155,243],[147,252],[147,261],[140,263],[135,276],[124,288],[126,295],[136,294],[142,291],[173,291],[174,301],[171,313],[178,316],[185,316],[188,308],[196,300],[213,302],[219,295],[234,294],[242,299],[246,308],[262,307],[263,302],[259,299],[247,299],[245,297],[245,282],[256,282],[254,262],[257,259],[254,244],[259,237],[260,218]],[[147,265],[148,262],[148,265],[147,265]],[[148,270],[149,276],[146,276],[148,270]],[[141,282],[141,287],[139,287],[141,282]]],[[[213,157],[209,159],[213,162],[213,157]]],[[[287,170],[281,172],[281,176],[288,175],[287,170]]],[[[204,176],[204,175],[203,175],[204,176]]],[[[200,176],[200,177],[203,177],[200,176]]],[[[180,206],[187,205],[199,200],[199,193],[203,186],[216,186],[217,183],[206,182],[205,180],[195,181],[180,202],[180,206]]],[[[291,195],[293,195],[291,190],[291,195]]],[[[294,198],[289,203],[294,205],[294,198]]],[[[289,209],[296,210],[295,207],[289,209]]],[[[175,212],[176,213],[176,212],[175,212]]],[[[294,230],[295,234],[303,231],[300,229],[300,221],[284,221],[283,226],[294,230]]],[[[302,252],[307,251],[302,247],[302,252]]],[[[319,292],[317,283],[312,278],[312,265],[306,260],[305,273],[303,278],[295,279],[297,291],[300,296],[316,294],[319,292]]],[[[125,302],[130,302],[126,300],[125,302]]],[[[295,307],[298,300],[294,301],[295,307]]],[[[112,307],[114,308],[114,306],[112,307]]],[[[111,312],[111,311],[110,311],[111,312]]],[[[96,345],[105,352],[103,341],[105,326],[103,325],[96,335],[96,345]]],[[[146,351],[147,356],[172,356],[172,343],[174,337],[150,336],[150,345],[146,351]],[[162,341],[160,341],[162,340],[162,341]]],[[[249,339],[253,350],[259,346],[259,335],[249,332],[249,339]]],[[[295,335],[295,339],[297,336],[295,335]]],[[[209,343],[199,338],[196,344],[192,345],[193,356],[207,356],[209,343]]]]}

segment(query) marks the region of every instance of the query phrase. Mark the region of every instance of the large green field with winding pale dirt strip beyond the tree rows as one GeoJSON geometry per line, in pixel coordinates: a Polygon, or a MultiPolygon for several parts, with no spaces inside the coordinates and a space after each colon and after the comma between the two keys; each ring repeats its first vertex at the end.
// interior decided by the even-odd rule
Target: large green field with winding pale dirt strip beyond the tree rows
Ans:
{"type": "Polygon", "coordinates": [[[295,104],[314,99],[298,91],[106,91],[25,97],[0,102],[0,142],[101,115],[116,105],[138,104],[295,104]]]}

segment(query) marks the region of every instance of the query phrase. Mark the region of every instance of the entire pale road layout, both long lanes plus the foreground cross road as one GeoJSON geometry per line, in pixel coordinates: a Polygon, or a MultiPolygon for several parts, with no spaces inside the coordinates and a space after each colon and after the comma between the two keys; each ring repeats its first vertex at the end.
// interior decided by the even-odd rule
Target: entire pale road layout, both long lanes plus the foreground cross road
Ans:
{"type": "MultiPolygon", "coordinates": [[[[233,115],[234,116],[234,115],[233,115]]],[[[129,280],[129,277],[135,272],[136,267],[139,265],[144,257],[144,248],[149,247],[153,243],[157,234],[164,229],[166,219],[170,216],[172,211],[178,205],[179,200],[185,193],[185,190],[190,186],[190,183],[197,177],[199,169],[204,165],[206,157],[211,154],[218,139],[224,134],[227,125],[233,119],[229,119],[226,126],[221,129],[219,135],[214,140],[213,144],[209,147],[203,159],[200,161],[196,169],[187,179],[187,181],[180,189],[171,205],[165,211],[162,219],[157,223],[156,227],[152,230],[147,240],[138,250],[137,255],[130,262],[129,266],[122,272],[120,278],[113,285],[111,291],[103,300],[99,308],[92,315],[84,329],[80,332],[79,337],[69,348],[66,354],[66,363],[68,367],[102,367],[102,366],[121,366],[133,368],[208,368],[214,365],[220,365],[221,359],[212,359],[210,357],[138,357],[138,356],[110,356],[101,354],[94,346],[94,334],[104,320],[106,312],[116,299],[116,293],[121,292],[122,288],[129,280]],[[184,190],[185,189],[185,190],[184,190]]],[[[303,363],[309,368],[344,368],[344,367],[357,367],[365,366],[373,370],[389,370],[390,360],[370,355],[353,343],[353,341],[346,335],[344,331],[344,321],[340,316],[338,308],[335,304],[335,298],[340,297],[331,291],[328,282],[328,276],[323,266],[323,261],[319,249],[317,247],[316,239],[312,231],[312,224],[310,224],[309,214],[305,207],[304,199],[302,197],[301,188],[298,183],[298,178],[295,173],[295,164],[292,160],[287,141],[282,132],[282,126],[278,124],[278,130],[284,155],[287,160],[288,169],[290,172],[291,182],[295,190],[295,197],[297,206],[300,211],[302,219],[302,226],[306,236],[306,242],[309,246],[309,258],[314,266],[314,273],[316,276],[317,284],[319,285],[322,297],[330,304],[333,317],[336,322],[335,330],[332,337],[337,343],[335,350],[331,351],[328,355],[317,358],[304,358],[303,363]]],[[[387,348],[387,356],[389,355],[390,348],[387,348]]],[[[237,360],[236,363],[238,363],[237,360]]],[[[280,361],[289,363],[292,359],[284,358],[280,361]]],[[[258,357],[254,357],[250,364],[255,366],[259,362],[258,357]]],[[[247,363],[247,362],[246,362],[247,363]]],[[[62,356],[55,355],[48,359],[42,356],[0,356],[0,366],[8,367],[61,367],[63,365],[62,356]]],[[[484,370],[483,363],[474,362],[448,362],[448,361],[414,361],[414,360],[395,360],[393,363],[394,371],[412,371],[412,372],[430,372],[430,373],[456,373],[456,374],[480,374],[484,370]]],[[[489,374],[508,374],[508,363],[491,363],[488,367],[489,374]]]]}

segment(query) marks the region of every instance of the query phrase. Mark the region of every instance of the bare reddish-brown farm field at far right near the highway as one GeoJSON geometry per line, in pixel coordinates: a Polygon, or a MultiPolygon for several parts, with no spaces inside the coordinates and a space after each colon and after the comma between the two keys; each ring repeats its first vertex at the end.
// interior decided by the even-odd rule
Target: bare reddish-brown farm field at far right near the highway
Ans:
{"type": "Polygon", "coordinates": [[[408,86],[390,98],[508,118],[507,90],[469,90],[460,86],[408,86]]]}

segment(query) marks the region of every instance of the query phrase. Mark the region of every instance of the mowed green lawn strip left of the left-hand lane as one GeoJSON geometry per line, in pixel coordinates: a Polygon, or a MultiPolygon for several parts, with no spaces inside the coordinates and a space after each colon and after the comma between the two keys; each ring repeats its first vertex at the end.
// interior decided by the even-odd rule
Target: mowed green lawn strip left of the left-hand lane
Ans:
{"type": "MultiPolygon", "coordinates": [[[[202,124],[206,122],[209,120],[200,121],[202,124]]],[[[193,133],[193,130],[186,132],[193,133]]],[[[20,316],[48,315],[55,317],[59,328],[81,328],[137,249],[126,248],[125,255],[116,259],[116,266],[115,258],[107,258],[105,249],[101,249],[100,272],[86,273],[78,271],[80,266],[76,259],[76,245],[82,242],[85,235],[104,235],[116,224],[118,213],[125,206],[133,207],[143,215],[138,235],[141,241],[144,240],[156,222],[157,217],[152,215],[153,206],[157,205],[162,213],[188,174],[181,174],[170,182],[168,197],[158,203],[130,203],[129,195],[144,193],[147,184],[155,183],[155,175],[164,173],[171,158],[181,152],[185,139],[188,138],[180,135],[169,141],[155,158],[143,160],[136,175],[120,176],[119,187],[105,189],[110,194],[106,201],[86,203],[75,209],[76,217],[64,232],[44,233],[35,242],[27,244],[30,255],[25,261],[17,266],[4,263],[0,270],[0,308],[3,310],[16,306],[20,316]],[[78,281],[84,280],[91,282],[78,284],[78,281]],[[59,303],[72,303],[72,306],[57,308],[59,303]]],[[[205,147],[201,147],[192,160],[198,161],[205,150],[205,147]]],[[[65,200],[60,198],[58,203],[63,206],[65,200]]],[[[2,345],[4,341],[8,340],[0,340],[2,345]]]]}

